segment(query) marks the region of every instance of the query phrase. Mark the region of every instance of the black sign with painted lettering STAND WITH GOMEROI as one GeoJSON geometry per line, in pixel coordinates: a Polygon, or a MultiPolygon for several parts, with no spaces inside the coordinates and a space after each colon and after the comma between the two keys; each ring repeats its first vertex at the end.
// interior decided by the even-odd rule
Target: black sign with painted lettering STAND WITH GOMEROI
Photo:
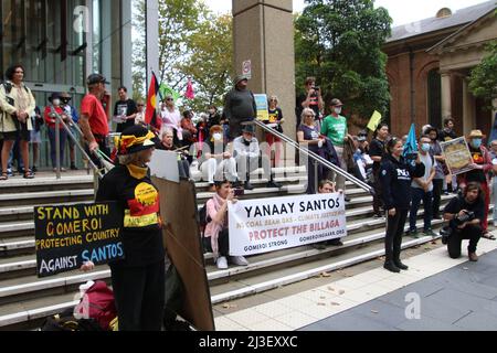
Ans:
{"type": "Polygon", "coordinates": [[[115,202],[34,207],[38,276],[124,258],[123,220],[115,202]]]}

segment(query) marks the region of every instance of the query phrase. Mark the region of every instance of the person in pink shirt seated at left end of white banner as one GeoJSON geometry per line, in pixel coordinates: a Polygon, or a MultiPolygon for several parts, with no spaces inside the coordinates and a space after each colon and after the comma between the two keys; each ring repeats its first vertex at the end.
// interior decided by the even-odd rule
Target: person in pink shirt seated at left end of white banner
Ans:
{"type": "Polygon", "coordinates": [[[215,194],[207,202],[207,226],[204,232],[204,248],[214,255],[219,269],[228,268],[228,260],[237,266],[247,266],[243,256],[229,256],[230,237],[228,223],[228,204],[235,203],[231,182],[228,180],[215,182],[215,194]]]}

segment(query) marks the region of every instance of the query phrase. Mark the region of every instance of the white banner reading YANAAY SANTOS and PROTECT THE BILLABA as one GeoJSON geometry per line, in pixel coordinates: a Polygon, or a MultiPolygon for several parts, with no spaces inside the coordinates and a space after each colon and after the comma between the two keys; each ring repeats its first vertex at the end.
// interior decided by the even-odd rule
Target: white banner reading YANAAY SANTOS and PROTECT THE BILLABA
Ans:
{"type": "Polygon", "coordinates": [[[347,236],[343,194],[239,201],[229,205],[230,255],[245,256],[347,236]]]}

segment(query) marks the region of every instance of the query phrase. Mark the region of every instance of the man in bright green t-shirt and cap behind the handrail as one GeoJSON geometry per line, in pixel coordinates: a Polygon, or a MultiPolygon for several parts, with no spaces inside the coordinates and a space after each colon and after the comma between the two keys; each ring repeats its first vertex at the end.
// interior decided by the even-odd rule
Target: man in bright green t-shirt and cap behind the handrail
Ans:
{"type": "MultiPolygon", "coordinates": [[[[343,171],[347,171],[347,163],[343,159],[343,146],[348,140],[348,128],[347,128],[347,118],[341,116],[343,104],[338,98],[331,99],[331,114],[322,120],[321,133],[327,136],[335,146],[335,150],[337,151],[338,159],[340,161],[340,168],[343,171]]],[[[346,191],[345,188],[345,178],[339,175],[338,173],[334,173],[334,181],[337,182],[338,189],[346,191]]],[[[346,201],[350,201],[349,197],[345,197],[346,201]]]]}

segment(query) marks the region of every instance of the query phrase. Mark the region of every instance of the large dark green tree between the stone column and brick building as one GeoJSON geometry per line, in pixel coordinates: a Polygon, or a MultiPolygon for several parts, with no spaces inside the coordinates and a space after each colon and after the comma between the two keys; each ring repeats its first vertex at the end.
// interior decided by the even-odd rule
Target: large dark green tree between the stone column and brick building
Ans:
{"type": "MultiPolygon", "coordinates": [[[[325,101],[340,98],[363,127],[390,101],[387,55],[381,51],[392,19],[372,0],[306,0],[295,20],[297,87],[316,76],[325,101]]],[[[302,90],[299,92],[302,94],[302,90]]]]}

